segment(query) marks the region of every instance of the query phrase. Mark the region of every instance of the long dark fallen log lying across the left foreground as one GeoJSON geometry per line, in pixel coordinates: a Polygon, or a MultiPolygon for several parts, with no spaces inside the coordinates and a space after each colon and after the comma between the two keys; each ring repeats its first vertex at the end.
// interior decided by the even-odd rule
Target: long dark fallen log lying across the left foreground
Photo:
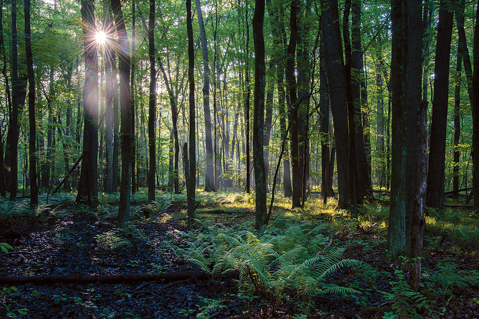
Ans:
{"type": "MultiPolygon", "coordinates": [[[[228,273],[222,276],[237,278],[239,273],[228,273]]],[[[210,280],[211,275],[201,272],[176,272],[162,274],[121,274],[121,275],[39,275],[39,276],[0,276],[0,285],[51,285],[51,284],[118,284],[130,282],[162,282],[169,283],[185,280],[210,280]]]]}

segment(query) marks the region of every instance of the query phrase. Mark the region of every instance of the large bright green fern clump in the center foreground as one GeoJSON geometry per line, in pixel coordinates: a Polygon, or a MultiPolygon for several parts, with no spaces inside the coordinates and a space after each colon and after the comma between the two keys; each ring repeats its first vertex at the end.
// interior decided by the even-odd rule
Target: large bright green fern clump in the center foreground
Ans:
{"type": "Polygon", "coordinates": [[[255,290],[271,306],[293,296],[306,310],[314,296],[356,293],[328,284],[328,276],[357,261],[342,259],[344,249],[330,248],[329,238],[318,229],[292,225],[258,236],[245,229],[215,228],[177,254],[213,276],[239,271],[240,289],[255,290]]]}

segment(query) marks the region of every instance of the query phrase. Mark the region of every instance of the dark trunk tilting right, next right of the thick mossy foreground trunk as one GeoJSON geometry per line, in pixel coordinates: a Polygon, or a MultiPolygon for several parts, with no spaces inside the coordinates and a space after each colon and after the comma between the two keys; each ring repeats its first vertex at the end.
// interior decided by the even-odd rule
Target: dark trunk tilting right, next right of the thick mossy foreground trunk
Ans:
{"type": "MultiPolygon", "coordinates": [[[[455,2],[455,0],[453,0],[455,2]]],[[[454,12],[452,3],[440,1],[436,61],[434,68],[434,95],[429,147],[428,189],[426,206],[444,209],[446,161],[446,126],[449,98],[449,60],[454,12]]]]}

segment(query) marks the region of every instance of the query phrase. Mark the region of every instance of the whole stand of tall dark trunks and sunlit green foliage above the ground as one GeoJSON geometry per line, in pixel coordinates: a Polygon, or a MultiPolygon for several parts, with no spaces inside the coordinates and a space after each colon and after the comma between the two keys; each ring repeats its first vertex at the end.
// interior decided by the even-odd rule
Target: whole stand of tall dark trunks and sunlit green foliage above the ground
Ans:
{"type": "Polygon", "coordinates": [[[189,219],[197,188],[254,189],[260,229],[276,188],[353,218],[390,190],[414,258],[425,205],[479,194],[477,1],[30,1],[0,3],[2,197],[119,190],[125,227],[140,186],[189,219]]]}

